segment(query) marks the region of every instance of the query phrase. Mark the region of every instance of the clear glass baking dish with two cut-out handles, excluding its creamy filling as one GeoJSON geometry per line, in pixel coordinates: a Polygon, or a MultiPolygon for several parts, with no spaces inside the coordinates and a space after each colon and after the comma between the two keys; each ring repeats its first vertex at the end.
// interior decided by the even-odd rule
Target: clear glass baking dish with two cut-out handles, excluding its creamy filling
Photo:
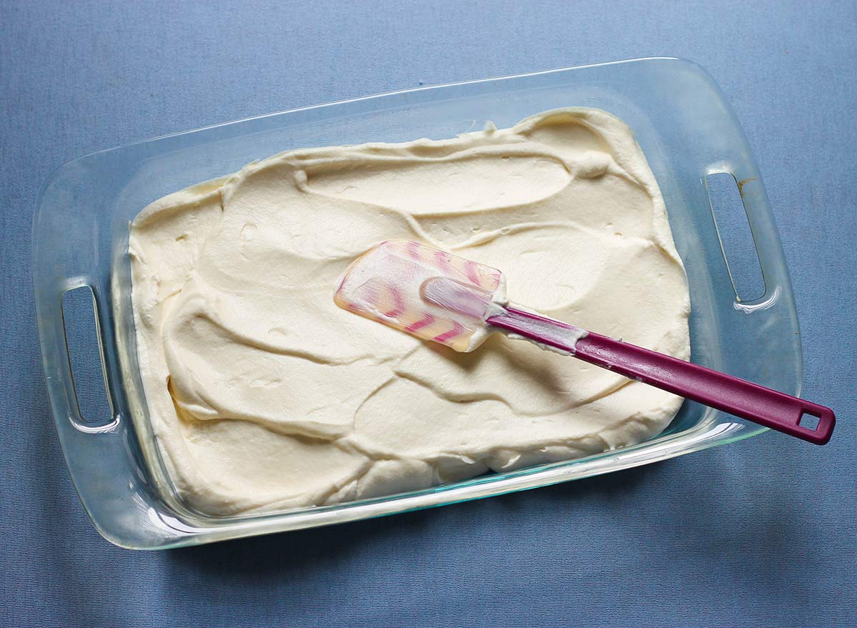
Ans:
{"type": "MultiPolygon", "coordinates": [[[[207,516],[177,497],[147,420],[136,363],[129,220],[149,202],[291,148],[442,139],[510,126],[554,107],[589,106],[634,130],[667,202],[690,283],[692,359],[791,395],[801,351],[788,270],[762,180],[734,113],[697,65],[649,58],[410,89],[159,137],[70,161],[45,182],[33,220],[33,287],[47,389],[81,502],[106,539],[137,549],[267,534],[546,486],[748,438],[765,428],[686,402],[656,438],[584,459],[452,485],[273,514],[207,516]],[[764,296],[738,299],[706,176],[740,181],[764,296]],[[63,293],[90,287],[109,420],[81,417],[63,323],[63,293]]],[[[733,269],[734,270],[734,269],[733,269]]],[[[83,383],[79,383],[81,385],[83,383]]]]}

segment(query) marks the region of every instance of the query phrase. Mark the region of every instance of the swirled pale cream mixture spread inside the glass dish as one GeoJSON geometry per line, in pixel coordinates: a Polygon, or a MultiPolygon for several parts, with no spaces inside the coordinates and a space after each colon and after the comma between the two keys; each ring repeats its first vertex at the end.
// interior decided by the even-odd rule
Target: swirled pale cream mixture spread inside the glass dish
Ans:
{"type": "Polygon", "coordinates": [[[689,297],[631,131],[563,109],[443,141],[275,155],[131,225],[137,352],[171,480],[213,514],[375,497],[636,444],[681,399],[530,343],[473,353],[337,307],[387,239],[500,269],[515,303],[689,357],[689,297]]]}

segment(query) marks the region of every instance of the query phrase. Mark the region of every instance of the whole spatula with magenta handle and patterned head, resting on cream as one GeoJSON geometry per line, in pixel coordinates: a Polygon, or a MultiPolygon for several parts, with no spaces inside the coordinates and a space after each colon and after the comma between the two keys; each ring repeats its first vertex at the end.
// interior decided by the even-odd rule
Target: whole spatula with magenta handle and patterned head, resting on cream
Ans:
{"type": "Polygon", "coordinates": [[[827,443],[836,424],[817,403],[518,309],[506,302],[499,270],[418,242],[388,240],[357,258],[334,300],[460,352],[501,330],[814,444],[827,443]],[[807,414],[816,426],[802,425],[807,414]]]}

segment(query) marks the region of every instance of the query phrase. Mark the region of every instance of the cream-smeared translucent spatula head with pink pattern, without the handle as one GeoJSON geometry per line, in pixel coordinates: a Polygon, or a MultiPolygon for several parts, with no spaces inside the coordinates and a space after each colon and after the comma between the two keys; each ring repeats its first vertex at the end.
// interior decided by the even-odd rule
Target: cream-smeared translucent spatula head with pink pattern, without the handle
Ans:
{"type": "Polygon", "coordinates": [[[499,270],[411,240],[387,240],[345,270],[339,307],[456,351],[488,335],[492,305],[505,301],[499,270]]]}

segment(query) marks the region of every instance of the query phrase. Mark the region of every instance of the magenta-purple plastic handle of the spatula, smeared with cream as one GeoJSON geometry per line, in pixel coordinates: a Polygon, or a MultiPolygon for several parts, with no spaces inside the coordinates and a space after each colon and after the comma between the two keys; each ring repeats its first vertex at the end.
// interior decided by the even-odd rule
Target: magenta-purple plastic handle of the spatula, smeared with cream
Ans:
{"type": "Polygon", "coordinates": [[[833,411],[817,403],[604,335],[590,332],[575,341],[577,328],[530,312],[506,308],[503,314],[489,317],[487,323],[810,443],[827,443],[836,424],[833,411]],[[818,419],[814,430],[800,425],[804,414],[818,419]]]}

